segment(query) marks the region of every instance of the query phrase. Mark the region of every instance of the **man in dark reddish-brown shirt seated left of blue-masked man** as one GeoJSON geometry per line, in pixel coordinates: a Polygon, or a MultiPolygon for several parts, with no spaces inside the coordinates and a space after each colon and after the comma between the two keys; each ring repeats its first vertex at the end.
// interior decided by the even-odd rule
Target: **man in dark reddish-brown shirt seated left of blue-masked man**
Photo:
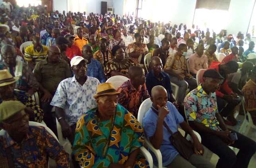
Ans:
{"type": "Polygon", "coordinates": [[[159,57],[162,60],[163,67],[165,66],[165,62],[167,60],[167,57],[169,57],[169,48],[170,48],[170,42],[169,40],[162,40],[162,45],[160,48],[157,48],[153,51],[152,57],[159,57]]]}

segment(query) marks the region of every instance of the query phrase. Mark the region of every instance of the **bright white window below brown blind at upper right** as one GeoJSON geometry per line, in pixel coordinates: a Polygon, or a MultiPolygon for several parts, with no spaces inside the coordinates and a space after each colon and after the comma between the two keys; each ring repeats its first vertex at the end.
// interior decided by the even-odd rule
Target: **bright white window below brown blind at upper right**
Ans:
{"type": "Polygon", "coordinates": [[[227,21],[223,17],[227,15],[229,15],[227,10],[196,9],[193,24],[202,30],[211,28],[210,32],[213,31],[218,34],[223,27],[227,26],[227,21]]]}

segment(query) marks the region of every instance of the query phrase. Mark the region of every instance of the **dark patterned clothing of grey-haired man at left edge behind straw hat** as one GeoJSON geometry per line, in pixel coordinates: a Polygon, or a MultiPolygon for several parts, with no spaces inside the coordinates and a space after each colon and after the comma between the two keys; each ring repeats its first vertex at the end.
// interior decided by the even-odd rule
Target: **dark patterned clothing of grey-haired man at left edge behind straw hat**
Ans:
{"type": "Polygon", "coordinates": [[[19,80],[16,82],[16,89],[21,91],[28,91],[33,88],[37,90],[39,83],[29,68],[28,64],[24,62],[22,57],[16,57],[16,66],[9,68],[6,66],[4,60],[0,61],[0,70],[8,70],[12,76],[19,76],[19,80]]]}

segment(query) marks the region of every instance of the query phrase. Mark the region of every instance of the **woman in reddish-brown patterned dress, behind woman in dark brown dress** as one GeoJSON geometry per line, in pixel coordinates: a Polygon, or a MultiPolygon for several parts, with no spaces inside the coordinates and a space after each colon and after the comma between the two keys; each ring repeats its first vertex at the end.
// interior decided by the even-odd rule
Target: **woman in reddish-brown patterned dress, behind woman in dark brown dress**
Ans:
{"type": "Polygon", "coordinates": [[[129,44],[126,48],[126,53],[129,54],[130,59],[136,64],[143,64],[143,56],[147,54],[147,45],[142,42],[142,35],[135,33],[135,41],[129,44]]]}

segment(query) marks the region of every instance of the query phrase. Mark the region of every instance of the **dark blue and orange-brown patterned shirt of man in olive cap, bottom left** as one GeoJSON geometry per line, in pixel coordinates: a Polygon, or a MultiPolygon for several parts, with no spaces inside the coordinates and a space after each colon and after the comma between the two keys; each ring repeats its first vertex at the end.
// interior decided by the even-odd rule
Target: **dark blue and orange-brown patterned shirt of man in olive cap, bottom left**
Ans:
{"type": "Polygon", "coordinates": [[[6,160],[6,164],[8,147],[16,168],[47,168],[48,157],[56,160],[58,168],[69,167],[68,153],[44,127],[29,126],[29,132],[21,143],[15,142],[4,131],[4,135],[0,136],[0,160],[6,160]]]}

